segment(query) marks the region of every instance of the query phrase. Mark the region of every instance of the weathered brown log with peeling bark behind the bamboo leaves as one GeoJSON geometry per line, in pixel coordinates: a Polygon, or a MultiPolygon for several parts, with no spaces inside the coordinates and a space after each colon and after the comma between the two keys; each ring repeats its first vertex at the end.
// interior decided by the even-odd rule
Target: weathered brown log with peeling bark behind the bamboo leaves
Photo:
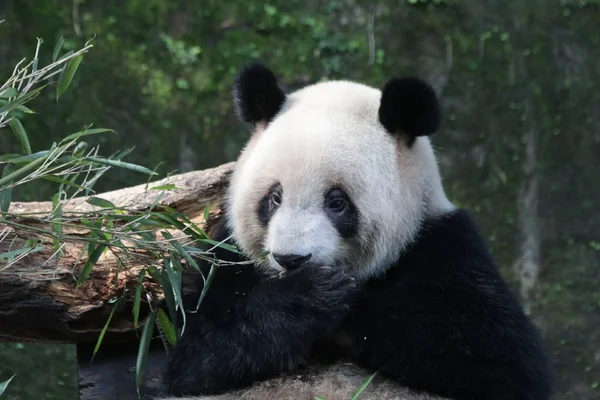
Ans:
{"type": "MultiPolygon", "coordinates": [[[[109,200],[118,207],[142,212],[148,210],[157,196],[163,193],[159,206],[176,209],[210,234],[210,221],[218,218],[218,204],[233,165],[228,163],[174,175],[149,185],[142,184],[96,197],[109,200]],[[148,190],[166,184],[174,184],[179,189],[166,192],[148,190]],[[212,209],[209,223],[203,217],[207,204],[212,209]]],[[[76,198],[64,203],[63,217],[97,209],[86,203],[86,199],[76,198]]],[[[95,342],[113,310],[109,301],[116,296],[123,298],[112,316],[103,342],[135,339],[139,332],[133,326],[133,296],[137,275],[141,268],[148,266],[150,255],[144,255],[144,262],[133,260],[131,265],[118,268],[117,256],[105,252],[87,281],[76,288],[76,277],[86,262],[85,256],[79,259],[85,241],[71,238],[82,235],[83,239],[88,231],[83,225],[63,227],[63,234],[70,239],[61,243],[62,256],[58,259],[53,257],[52,239],[35,231],[36,228],[48,230],[49,223],[40,222],[39,218],[51,212],[50,202],[12,203],[9,213],[19,215],[20,226],[9,226],[0,220],[0,257],[3,253],[23,248],[27,239],[39,240],[47,247],[10,265],[6,259],[0,258],[0,341],[95,342]],[[32,218],[32,214],[36,218],[32,218]]],[[[158,260],[154,261],[158,264],[158,260]]],[[[154,298],[162,296],[160,285],[156,282],[147,279],[143,285],[154,298]]],[[[147,311],[147,305],[142,301],[140,320],[147,311]]]]}

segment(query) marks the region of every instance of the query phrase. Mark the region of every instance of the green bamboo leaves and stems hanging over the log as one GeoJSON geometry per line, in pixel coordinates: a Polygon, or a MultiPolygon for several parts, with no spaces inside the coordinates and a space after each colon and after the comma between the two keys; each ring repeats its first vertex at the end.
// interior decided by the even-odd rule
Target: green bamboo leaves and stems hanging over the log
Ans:
{"type": "MultiPolygon", "coordinates": [[[[204,233],[197,226],[187,219],[183,214],[170,209],[169,207],[163,207],[164,211],[154,211],[152,209],[142,215],[134,215],[128,210],[117,208],[112,202],[102,199],[97,196],[90,196],[86,199],[86,202],[92,206],[100,208],[95,210],[93,213],[80,213],[77,216],[71,216],[69,220],[65,219],[62,212],[62,200],[65,200],[69,196],[69,190],[75,190],[72,194],[79,194],[84,192],[89,194],[93,192],[92,187],[98,180],[98,178],[111,167],[129,169],[136,172],[141,172],[147,175],[156,175],[156,172],[136,164],[121,161],[121,158],[129,154],[130,151],[124,151],[117,153],[112,157],[102,157],[98,155],[97,149],[92,149],[86,152],[87,144],[81,142],[82,137],[91,137],[92,135],[98,135],[102,133],[113,132],[110,129],[83,129],[79,132],[70,134],[63,138],[58,143],[52,143],[49,150],[44,150],[35,154],[31,152],[31,146],[27,132],[23,125],[16,117],[11,114],[18,107],[24,107],[24,104],[31,101],[33,96],[31,93],[37,95],[47,85],[43,85],[32,91],[33,85],[44,79],[44,71],[51,71],[57,69],[58,66],[62,65],[57,72],[60,72],[59,79],[57,82],[56,98],[58,99],[65,93],[73,78],[75,72],[78,69],[79,64],[83,58],[83,51],[77,53],[70,52],[68,55],[58,58],[60,54],[61,46],[64,43],[64,39],[59,38],[53,52],[53,63],[49,66],[38,70],[38,58],[37,52],[42,40],[38,40],[38,49],[36,51],[36,58],[31,66],[31,74],[27,73],[27,68],[19,70],[16,74],[3,85],[2,90],[3,98],[6,99],[3,103],[3,107],[0,109],[0,127],[2,123],[5,125],[8,123],[12,128],[13,132],[17,136],[21,144],[21,150],[23,154],[9,154],[2,156],[0,164],[6,164],[3,169],[3,176],[0,178],[0,200],[2,206],[2,213],[0,214],[0,221],[6,226],[19,226],[20,228],[27,229],[27,226],[20,224],[19,219],[21,215],[15,215],[10,213],[10,201],[12,190],[24,183],[38,181],[41,179],[49,180],[53,183],[59,183],[58,192],[52,196],[53,211],[50,215],[50,230],[43,230],[41,228],[29,228],[32,232],[37,234],[43,233],[50,236],[53,240],[54,250],[56,251],[56,257],[60,258],[61,252],[59,251],[61,241],[65,239],[74,239],[68,235],[63,235],[63,226],[68,224],[81,223],[90,230],[90,236],[87,238],[79,237],[79,240],[86,241],[84,250],[81,256],[86,253],[87,260],[77,276],[77,288],[80,287],[89,277],[94,266],[98,263],[98,260],[105,251],[114,251],[118,249],[122,252],[123,258],[126,258],[131,252],[139,251],[140,249],[150,250],[151,253],[160,254],[165,253],[163,257],[163,270],[158,271],[155,267],[151,267],[151,270],[142,270],[139,274],[138,285],[136,287],[135,295],[135,306],[133,310],[134,324],[137,326],[139,320],[139,312],[141,306],[141,295],[142,295],[142,283],[144,277],[149,273],[163,285],[165,292],[165,299],[169,310],[169,316],[162,309],[152,309],[146,321],[144,322],[144,329],[140,338],[139,354],[136,363],[136,385],[139,388],[141,380],[145,371],[145,362],[147,352],[149,349],[153,327],[155,324],[161,329],[162,334],[167,338],[169,345],[173,346],[177,342],[177,331],[183,332],[185,329],[185,314],[183,316],[183,326],[181,329],[177,328],[177,311],[183,309],[183,300],[181,296],[181,259],[185,258],[192,266],[199,270],[198,265],[194,259],[189,255],[188,251],[184,249],[183,245],[179,243],[170,233],[163,231],[162,234],[167,239],[167,246],[171,244],[172,248],[165,248],[161,243],[156,243],[153,237],[148,238],[145,233],[149,233],[148,227],[159,227],[164,229],[180,229],[184,232],[189,232],[192,240],[207,241],[209,239],[206,233],[204,233]],[[20,85],[26,78],[29,78],[28,86],[22,92],[19,92],[17,88],[10,85],[20,85]],[[96,172],[92,178],[90,175],[96,172]],[[82,179],[78,181],[78,178],[82,175],[82,179]],[[129,214],[129,215],[127,215],[129,214]],[[118,221],[125,220],[127,224],[125,226],[118,224],[118,221]],[[149,224],[149,226],[146,226],[149,224]],[[141,234],[140,234],[141,232],[141,234]],[[147,240],[150,239],[150,240],[147,240]],[[125,242],[133,242],[133,245],[126,245],[125,242]]],[[[89,47],[86,45],[85,49],[89,47]]],[[[20,88],[20,86],[17,86],[20,88]]],[[[172,185],[161,185],[153,188],[152,190],[160,190],[159,196],[156,198],[155,206],[160,201],[164,190],[175,189],[172,185]]],[[[73,214],[73,213],[72,213],[73,214]]],[[[31,219],[38,219],[39,217],[31,216],[31,219]]],[[[40,222],[42,222],[40,220],[40,222]]],[[[152,236],[152,235],[150,235],[152,236]]],[[[212,243],[212,241],[210,241],[212,243]]],[[[215,245],[220,245],[216,243],[215,245]]],[[[232,250],[235,250],[232,246],[229,246],[232,250]]],[[[45,247],[39,245],[36,240],[29,240],[25,246],[15,250],[9,250],[0,254],[0,262],[2,262],[2,272],[8,272],[11,265],[18,259],[26,254],[41,251],[45,247]]],[[[201,257],[202,255],[200,255],[201,257]]],[[[205,256],[206,257],[206,256],[205,256]]],[[[211,279],[211,277],[209,277],[211,279]]],[[[206,285],[208,288],[209,284],[206,285]]],[[[203,295],[205,291],[203,292],[203,295]]],[[[108,316],[108,319],[100,332],[96,346],[93,351],[93,357],[96,356],[100,349],[102,340],[109,328],[112,317],[120,304],[121,298],[113,299],[114,306],[108,316]]],[[[11,378],[12,379],[12,378],[11,378]]],[[[4,392],[9,379],[6,382],[0,384],[0,390],[4,392]]]]}

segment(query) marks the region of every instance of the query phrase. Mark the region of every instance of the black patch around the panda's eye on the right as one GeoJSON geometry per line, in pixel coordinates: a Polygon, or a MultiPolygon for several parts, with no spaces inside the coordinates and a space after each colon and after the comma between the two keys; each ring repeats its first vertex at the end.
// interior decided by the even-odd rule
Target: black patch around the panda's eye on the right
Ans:
{"type": "Polygon", "coordinates": [[[358,209],[340,187],[332,187],[325,193],[325,212],[340,235],[345,238],[355,236],[358,232],[358,209]]]}

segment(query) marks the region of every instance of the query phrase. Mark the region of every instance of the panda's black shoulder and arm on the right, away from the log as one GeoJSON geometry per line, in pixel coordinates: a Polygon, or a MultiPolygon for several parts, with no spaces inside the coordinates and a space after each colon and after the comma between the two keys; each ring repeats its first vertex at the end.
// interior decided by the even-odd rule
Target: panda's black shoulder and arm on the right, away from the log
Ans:
{"type": "Polygon", "coordinates": [[[424,232],[356,301],[343,326],[355,360],[457,400],[549,399],[541,339],[468,214],[432,221],[424,232]]]}

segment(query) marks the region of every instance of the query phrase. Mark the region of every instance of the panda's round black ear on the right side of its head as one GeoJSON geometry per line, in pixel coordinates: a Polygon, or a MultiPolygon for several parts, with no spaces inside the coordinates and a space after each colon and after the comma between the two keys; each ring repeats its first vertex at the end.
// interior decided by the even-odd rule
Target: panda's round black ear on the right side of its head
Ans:
{"type": "Polygon", "coordinates": [[[381,91],[379,121],[390,133],[413,138],[431,135],[441,118],[435,90],[420,78],[393,78],[381,91]]]}

